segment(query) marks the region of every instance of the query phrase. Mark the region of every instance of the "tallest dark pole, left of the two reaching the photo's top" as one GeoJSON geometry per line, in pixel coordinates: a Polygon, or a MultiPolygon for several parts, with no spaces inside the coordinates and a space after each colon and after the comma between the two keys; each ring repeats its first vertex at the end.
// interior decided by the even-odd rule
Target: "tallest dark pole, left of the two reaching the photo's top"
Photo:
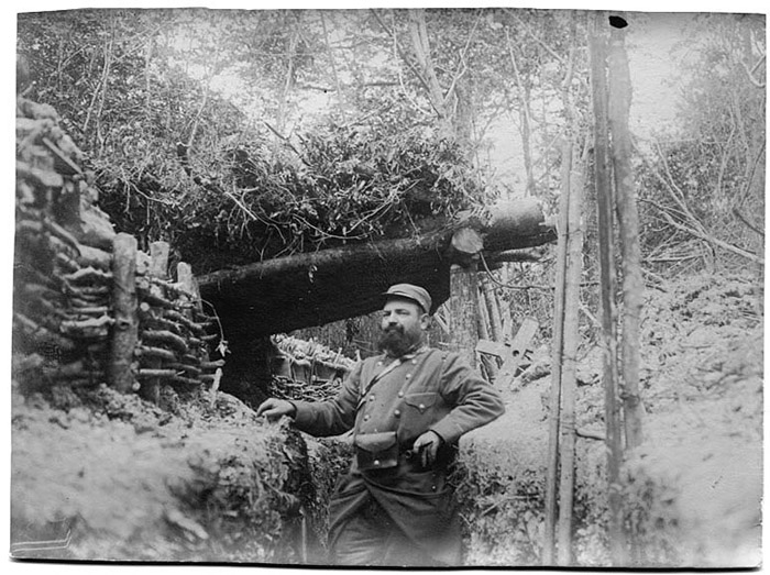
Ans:
{"type": "Polygon", "coordinates": [[[617,330],[615,308],[615,250],[613,245],[613,188],[609,177],[607,120],[606,40],[602,24],[606,13],[590,20],[588,57],[594,111],[594,174],[597,198],[600,279],[602,291],[602,336],[604,341],[604,407],[607,436],[607,489],[609,505],[609,552],[613,566],[627,565],[623,500],[619,493],[620,422],[617,399],[617,330]]]}

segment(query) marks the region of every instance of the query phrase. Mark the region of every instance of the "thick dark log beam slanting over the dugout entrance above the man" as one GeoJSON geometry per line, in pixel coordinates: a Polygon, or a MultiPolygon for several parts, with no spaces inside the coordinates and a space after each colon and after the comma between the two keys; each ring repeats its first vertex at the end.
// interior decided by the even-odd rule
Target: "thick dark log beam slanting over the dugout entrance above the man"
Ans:
{"type": "MultiPolygon", "coordinates": [[[[221,269],[198,278],[201,297],[221,318],[226,339],[262,336],[371,313],[388,286],[424,286],[438,308],[449,298],[449,270],[460,261],[454,233],[471,228],[485,251],[520,250],[556,239],[534,198],[503,202],[446,229],[221,269]]],[[[468,254],[463,257],[466,258],[468,254]]]]}

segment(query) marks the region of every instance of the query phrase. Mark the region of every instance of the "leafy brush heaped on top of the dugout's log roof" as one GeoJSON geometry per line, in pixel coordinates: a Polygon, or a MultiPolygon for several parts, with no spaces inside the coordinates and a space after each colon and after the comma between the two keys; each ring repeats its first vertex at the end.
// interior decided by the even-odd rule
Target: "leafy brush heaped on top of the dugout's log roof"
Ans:
{"type": "Polygon", "coordinates": [[[447,222],[477,195],[457,146],[415,131],[318,128],[293,146],[295,157],[271,153],[258,139],[222,147],[211,176],[193,189],[147,198],[123,187],[105,198],[106,209],[122,229],[168,237],[205,272],[409,235],[447,222]],[[153,219],[134,220],[143,212],[153,219]]]}

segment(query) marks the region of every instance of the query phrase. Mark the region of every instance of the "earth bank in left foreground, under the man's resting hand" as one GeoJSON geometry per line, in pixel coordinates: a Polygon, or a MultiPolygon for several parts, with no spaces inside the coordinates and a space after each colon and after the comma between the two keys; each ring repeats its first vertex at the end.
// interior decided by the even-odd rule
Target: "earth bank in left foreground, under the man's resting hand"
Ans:
{"type": "Polygon", "coordinates": [[[283,562],[312,504],[296,431],[226,394],[14,392],[12,554],[283,562]]]}

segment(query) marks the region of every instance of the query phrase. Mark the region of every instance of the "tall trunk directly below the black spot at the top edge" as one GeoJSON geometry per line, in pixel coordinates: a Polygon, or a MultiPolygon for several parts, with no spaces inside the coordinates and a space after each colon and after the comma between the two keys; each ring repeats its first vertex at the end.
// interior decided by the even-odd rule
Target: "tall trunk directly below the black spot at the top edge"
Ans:
{"type": "Polygon", "coordinates": [[[639,214],[636,206],[631,169],[631,136],[628,111],[631,104],[631,79],[625,47],[625,31],[612,27],[609,33],[608,85],[609,133],[615,174],[615,190],[620,246],[623,252],[623,403],[626,424],[626,447],[632,450],[642,441],[642,410],[639,397],[639,322],[644,298],[639,214]]]}

